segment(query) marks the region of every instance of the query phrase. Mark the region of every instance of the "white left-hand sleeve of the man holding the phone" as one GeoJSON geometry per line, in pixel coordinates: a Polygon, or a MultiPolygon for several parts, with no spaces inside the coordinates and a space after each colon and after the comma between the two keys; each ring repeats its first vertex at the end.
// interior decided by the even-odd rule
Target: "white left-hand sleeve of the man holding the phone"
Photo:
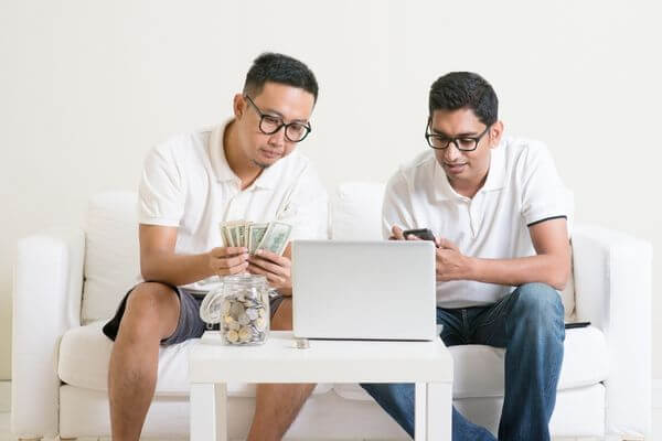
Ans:
{"type": "Polygon", "coordinates": [[[403,229],[414,228],[412,195],[407,180],[398,171],[386,184],[384,203],[382,204],[382,235],[385,239],[391,236],[393,226],[403,229]]]}

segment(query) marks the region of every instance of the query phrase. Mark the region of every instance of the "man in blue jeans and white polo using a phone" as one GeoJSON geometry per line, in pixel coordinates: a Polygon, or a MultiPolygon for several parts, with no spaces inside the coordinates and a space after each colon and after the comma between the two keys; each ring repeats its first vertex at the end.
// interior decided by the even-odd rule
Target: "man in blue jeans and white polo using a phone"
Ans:
{"type": "MultiPolygon", "coordinates": [[[[436,237],[437,322],[448,346],[505,348],[500,440],[549,440],[563,361],[562,290],[570,270],[565,190],[540,142],[502,137],[498,99],[477,74],[437,79],[430,147],[388,182],[386,237],[436,237]]],[[[364,389],[414,437],[414,385],[364,389]]],[[[453,408],[453,440],[494,440],[453,408]]]]}

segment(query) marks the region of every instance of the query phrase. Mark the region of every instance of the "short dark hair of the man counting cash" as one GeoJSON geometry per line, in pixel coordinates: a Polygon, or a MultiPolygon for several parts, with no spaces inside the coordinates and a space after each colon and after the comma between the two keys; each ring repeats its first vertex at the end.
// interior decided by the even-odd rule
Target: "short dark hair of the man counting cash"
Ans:
{"type": "Polygon", "coordinates": [[[253,62],[246,74],[244,94],[259,95],[265,83],[280,83],[309,92],[317,103],[318,85],[314,74],[300,61],[284,54],[265,52],[253,62]]]}

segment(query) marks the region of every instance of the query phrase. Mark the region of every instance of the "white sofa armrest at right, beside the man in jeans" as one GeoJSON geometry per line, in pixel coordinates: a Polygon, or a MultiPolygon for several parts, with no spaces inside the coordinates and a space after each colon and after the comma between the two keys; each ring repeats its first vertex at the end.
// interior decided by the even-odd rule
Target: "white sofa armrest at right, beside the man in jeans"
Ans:
{"type": "Polygon", "coordinates": [[[573,232],[576,314],[602,330],[607,434],[651,434],[652,246],[596,226],[573,232]]]}

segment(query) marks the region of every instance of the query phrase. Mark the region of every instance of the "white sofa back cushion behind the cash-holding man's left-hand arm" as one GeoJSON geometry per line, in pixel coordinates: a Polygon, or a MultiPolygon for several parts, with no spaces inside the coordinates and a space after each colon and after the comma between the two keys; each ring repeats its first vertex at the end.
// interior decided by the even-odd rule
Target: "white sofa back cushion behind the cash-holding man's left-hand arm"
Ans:
{"type": "Polygon", "coordinates": [[[114,314],[140,271],[136,193],[100,193],[89,201],[85,227],[83,323],[114,314]]]}

